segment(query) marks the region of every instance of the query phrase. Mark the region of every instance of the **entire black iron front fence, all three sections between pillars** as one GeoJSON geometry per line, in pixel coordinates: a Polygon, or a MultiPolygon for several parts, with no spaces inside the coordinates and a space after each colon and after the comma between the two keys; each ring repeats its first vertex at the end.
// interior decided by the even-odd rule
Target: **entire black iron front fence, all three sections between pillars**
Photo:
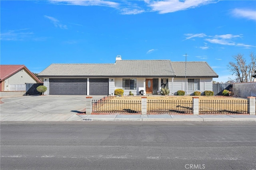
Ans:
{"type": "MultiPolygon", "coordinates": [[[[192,100],[147,100],[147,114],[193,114],[192,100]]],[[[199,114],[248,114],[248,100],[199,100],[199,114]]],[[[92,113],[141,114],[141,100],[92,100],[92,113]]]]}

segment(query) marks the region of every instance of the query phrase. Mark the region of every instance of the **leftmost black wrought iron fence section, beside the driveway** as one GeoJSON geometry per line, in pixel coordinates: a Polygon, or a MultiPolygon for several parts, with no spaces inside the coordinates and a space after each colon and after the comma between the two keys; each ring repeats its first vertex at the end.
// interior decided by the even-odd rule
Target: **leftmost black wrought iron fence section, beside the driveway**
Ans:
{"type": "Polygon", "coordinates": [[[141,114],[141,101],[92,100],[92,112],[141,114]]]}

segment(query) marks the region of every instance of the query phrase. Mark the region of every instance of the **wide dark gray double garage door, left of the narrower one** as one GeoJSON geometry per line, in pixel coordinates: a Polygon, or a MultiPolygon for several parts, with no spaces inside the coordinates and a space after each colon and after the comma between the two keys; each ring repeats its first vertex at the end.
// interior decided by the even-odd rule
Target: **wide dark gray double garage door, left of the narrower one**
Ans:
{"type": "Polygon", "coordinates": [[[50,95],[86,95],[87,78],[50,78],[50,95]]]}

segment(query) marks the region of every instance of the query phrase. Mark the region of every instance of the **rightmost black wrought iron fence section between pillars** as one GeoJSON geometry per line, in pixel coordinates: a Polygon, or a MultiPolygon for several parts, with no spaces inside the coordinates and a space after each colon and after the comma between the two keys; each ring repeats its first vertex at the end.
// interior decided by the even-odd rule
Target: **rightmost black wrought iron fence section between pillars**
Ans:
{"type": "Polygon", "coordinates": [[[248,101],[200,100],[199,114],[248,114],[248,101]]]}

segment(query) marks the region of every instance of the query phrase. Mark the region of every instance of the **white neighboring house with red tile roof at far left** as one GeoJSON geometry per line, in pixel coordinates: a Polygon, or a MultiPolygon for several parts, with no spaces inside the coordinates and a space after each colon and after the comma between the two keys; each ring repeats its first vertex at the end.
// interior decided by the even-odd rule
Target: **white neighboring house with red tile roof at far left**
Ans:
{"type": "Polygon", "coordinates": [[[24,65],[0,65],[0,91],[26,91],[26,83],[40,80],[24,65]]]}

